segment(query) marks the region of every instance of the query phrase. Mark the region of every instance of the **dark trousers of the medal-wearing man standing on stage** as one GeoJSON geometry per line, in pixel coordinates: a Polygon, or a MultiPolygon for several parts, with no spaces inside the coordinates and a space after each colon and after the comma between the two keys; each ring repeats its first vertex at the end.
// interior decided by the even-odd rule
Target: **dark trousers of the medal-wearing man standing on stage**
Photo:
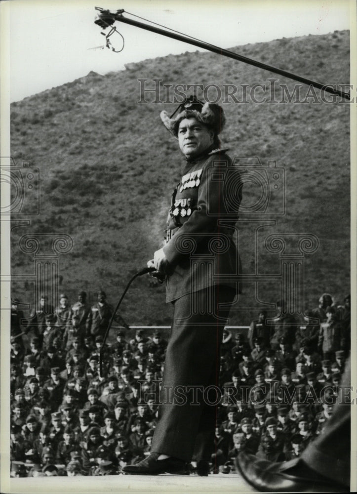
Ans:
{"type": "Polygon", "coordinates": [[[232,288],[216,286],[175,300],[153,453],[211,459],[222,332],[235,295],[232,288]]]}

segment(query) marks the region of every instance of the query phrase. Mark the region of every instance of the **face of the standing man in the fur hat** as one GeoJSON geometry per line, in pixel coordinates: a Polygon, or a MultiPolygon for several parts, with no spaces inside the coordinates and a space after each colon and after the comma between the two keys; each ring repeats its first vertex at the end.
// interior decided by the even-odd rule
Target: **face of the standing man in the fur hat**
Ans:
{"type": "Polygon", "coordinates": [[[195,118],[181,120],[177,136],[186,158],[200,155],[213,143],[213,131],[195,118]]]}

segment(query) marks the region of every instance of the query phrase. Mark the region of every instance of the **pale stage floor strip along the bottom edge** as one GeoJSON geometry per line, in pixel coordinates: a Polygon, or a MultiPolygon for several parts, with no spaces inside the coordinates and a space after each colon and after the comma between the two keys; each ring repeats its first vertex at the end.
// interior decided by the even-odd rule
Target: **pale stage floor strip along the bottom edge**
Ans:
{"type": "MultiPolygon", "coordinates": [[[[2,477],[2,481],[4,478],[2,477]]],[[[2,482],[2,489],[7,482],[2,482]]],[[[107,475],[104,477],[39,477],[9,479],[11,494],[237,494],[257,492],[240,475],[217,474],[208,477],[186,475],[107,475]]]]}

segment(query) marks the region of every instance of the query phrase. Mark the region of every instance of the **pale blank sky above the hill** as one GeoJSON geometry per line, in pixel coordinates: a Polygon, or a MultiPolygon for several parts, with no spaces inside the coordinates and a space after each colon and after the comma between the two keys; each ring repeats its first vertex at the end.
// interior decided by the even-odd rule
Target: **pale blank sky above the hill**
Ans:
{"type": "MultiPolygon", "coordinates": [[[[125,39],[124,50],[114,53],[108,48],[101,49],[105,38],[93,22],[95,6],[112,11],[124,8],[200,40],[229,48],[350,29],[350,5],[349,0],[2,1],[3,64],[10,66],[8,94],[10,101],[19,101],[90,71],[105,74],[122,70],[129,62],[197,49],[122,23],[116,23],[116,27],[125,39]]],[[[121,47],[117,34],[111,40],[116,48],[121,47]]],[[[294,67],[281,68],[294,71],[294,67]]]]}

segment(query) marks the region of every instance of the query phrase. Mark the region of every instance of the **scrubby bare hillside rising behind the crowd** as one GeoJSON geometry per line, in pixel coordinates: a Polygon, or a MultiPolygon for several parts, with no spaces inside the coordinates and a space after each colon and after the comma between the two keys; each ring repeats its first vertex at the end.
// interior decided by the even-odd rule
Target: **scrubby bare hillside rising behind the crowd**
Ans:
{"type": "MultiPolygon", "coordinates": [[[[244,56],[325,83],[349,82],[349,32],[281,39],[233,48],[244,56]]],[[[119,56],[119,55],[118,55],[119,56]]],[[[11,155],[40,169],[40,215],[12,232],[12,273],[33,272],[33,258],[20,252],[25,233],[64,233],[71,253],[60,257],[60,290],[71,301],[98,288],[114,303],[130,276],[146,266],[161,245],[173,185],[180,177],[177,142],[159,112],[177,105],[141,103],[138,79],[162,84],[254,84],[278,76],[219,57],[186,52],[130,64],[126,70],[86,77],[11,105],[11,155]]],[[[294,82],[281,78],[293,93],[294,82]]],[[[163,87],[161,86],[163,90],[163,87]]],[[[306,95],[308,88],[301,87],[306,95]]],[[[162,92],[164,94],[164,92],[162,92]]],[[[279,89],[274,93],[281,100],[279,89]]],[[[274,96],[273,94],[273,96],[274,96]]],[[[318,94],[318,92],[317,92],[318,94]]],[[[259,91],[256,95],[260,96],[259,91]]],[[[201,94],[198,92],[198,97],[201,94]]],[[[235,156],[276,161],[286,173],[286,213],[257,234],[260,273],[277,273],[277,255],[264,248],[270,233],[313,233],[319,248],[305,261],[305,306],[323,291],[342,301],[350,291],[349,105],[314,98],[305,103],[221,101],[227,116],[222,143],[235,156]]],[[[249,188],[243,190],[249,204],[249,188]]],[[[26,206],[26,204],[25,204],[26,206]]],[[[24,209],[25,210],[25,209],[24,209]]],[[[15,225],[16,223],[14,223],[15,225]]],[[[245,273],[254,272],[251,224],[239,231],[245,273]]],[[[13,293],[33,303],[33,285],[13,283],[13,293]]],[[[257,307],[254,286],[243,284],[237,308],[257,307]]],[[[278,284],[259,284],[257,298],[275,302],[278,284]]],[[[274,312],[274,311],[273,311],[274,312]]],[[[122,315],[130,325],[170,321],[164,288],[143,277],[130,288],[122,315]]],[[[254,310],[236,310],[231,324],[248,324],[254,310]]]]}

